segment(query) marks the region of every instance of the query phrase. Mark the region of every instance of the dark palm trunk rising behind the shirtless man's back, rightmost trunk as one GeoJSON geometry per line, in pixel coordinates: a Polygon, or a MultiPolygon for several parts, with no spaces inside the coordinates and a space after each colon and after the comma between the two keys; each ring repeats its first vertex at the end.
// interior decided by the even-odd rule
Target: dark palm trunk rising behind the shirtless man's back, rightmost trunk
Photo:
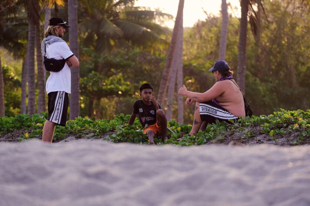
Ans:
{"type": "Polygon", "coordinates": [[[241,18],[240,18],[240,36],[238,45],[238,65],[237,65],[237,82],[245,95],[245,74],[246,74],[246,35],[247,35],[247,14],[249,0],[241,0],[241,18]]]}

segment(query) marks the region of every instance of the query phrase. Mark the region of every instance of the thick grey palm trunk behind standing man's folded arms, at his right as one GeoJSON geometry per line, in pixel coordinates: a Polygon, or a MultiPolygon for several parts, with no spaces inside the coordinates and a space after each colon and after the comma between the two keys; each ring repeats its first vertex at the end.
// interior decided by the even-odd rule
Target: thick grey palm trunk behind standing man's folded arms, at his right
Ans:
{"type": "MultiPolygon", "coordinates": [[[[78,50],[78,4],[77,0],[68,0],[69,13],[69,44],[74,55],[79,57],[78,50]]],[[[70,95],[70,120],[80,115],[79,90],[80,90],[79,67],[71,67],[71,95],[70,95]]]]}

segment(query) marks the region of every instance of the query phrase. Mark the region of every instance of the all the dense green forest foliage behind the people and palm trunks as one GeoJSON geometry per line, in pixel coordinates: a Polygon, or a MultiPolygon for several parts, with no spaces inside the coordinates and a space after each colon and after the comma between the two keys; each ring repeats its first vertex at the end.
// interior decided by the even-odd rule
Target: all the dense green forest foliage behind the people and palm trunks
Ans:
{"type": "MultiPolygon", "coordinates": [[[[2,14],[5,30],[24,45],[17,49],[21,54],[14,52],[15,58],[23,57],[27,49],[27,38],[20,33],[27,33],[26,15],[22,3],[18,2],[14,6],[15,16],[2,14]]],[[[157,96],[168,50],[166,40],[171,34],[156,22],[171,16],[134,7],[134,0],[122,1],[119,5],[112,5],[112,0],[105,1],[107,4],[102,2],[79,1],[78,6],[80,116],[113,120],[117,114],[131,114],[142,83],[151,83],[157,96]],[[155,37],[158,38],[155,40],[155,37]]],[[[68,19],[66,6],[58,6],[57,12],[63,19],[68,19]]],[[[266,0],[263,6],[266,15],[260,12],[257,35],[248,32],[247,36],[245,96],[256,116],[271,114],[280,108],[305,111],[310,105],[310,3],[266,0]]],[[[41,15],[44,19],[43,12],[41,15]]],[[[56,9],[52,9],[52,15],[56,15],[56,9]]],[[[237,79],[239,19],[229,15],[228,22],[225,60],[237,79]]],[[[184,84],[188,90],[204,92],[215,83],[208,69],[218,58],[221,24],[221,17],[207,15],[194,27],[184,28],[184,84]]],[[[63,38],[68,41],[67,32],[63,38]]],[[[7,116],[14,116],[19,113],[22,62],[19,68],[12,66],[12,61],[17,60],[0,51],[6,75],[5,112],[7,116]],[[8,77],[11,73],[14,78],[8,77]]],[[[176,106],[172,111],[175,120],[176,106]]],[[[192,124],[193,111],[194,105],[184,109],[185,123],[192,124]]]]}

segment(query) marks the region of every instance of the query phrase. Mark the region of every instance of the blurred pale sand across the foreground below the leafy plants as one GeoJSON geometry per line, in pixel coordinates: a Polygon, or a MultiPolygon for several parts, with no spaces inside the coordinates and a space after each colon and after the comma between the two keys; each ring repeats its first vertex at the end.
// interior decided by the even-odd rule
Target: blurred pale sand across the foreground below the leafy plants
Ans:
{"type": "Polygon", "coordinates": [[[0,205],[310,205],[310,145],[0,143],[0,205]]]}

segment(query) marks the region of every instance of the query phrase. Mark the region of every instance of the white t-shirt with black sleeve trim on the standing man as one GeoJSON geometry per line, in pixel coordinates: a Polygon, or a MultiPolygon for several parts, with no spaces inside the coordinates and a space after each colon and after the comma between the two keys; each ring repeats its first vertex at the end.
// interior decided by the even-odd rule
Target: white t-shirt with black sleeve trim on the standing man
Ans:
{"type": "MultiPolygon", "coordinates": [[[[68,44],[66,42],[56,42],[53,44],[46,44],[46,57],[51,59],[68,59],[73,56],[68,44]]],[[[67,63],[59,72],[51,72],[51,75],[46,81],[47,94],[52,91],[65,91],[71,93],[71,72],[67,63]]]]}

